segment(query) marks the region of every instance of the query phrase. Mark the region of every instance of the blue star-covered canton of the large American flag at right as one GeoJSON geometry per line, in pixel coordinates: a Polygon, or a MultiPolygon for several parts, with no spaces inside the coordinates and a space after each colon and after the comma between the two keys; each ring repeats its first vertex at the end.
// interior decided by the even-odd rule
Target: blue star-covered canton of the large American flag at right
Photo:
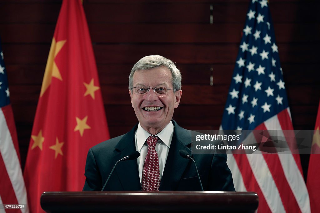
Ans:
{"type": "Polygon", "coordinates": [[[266,0],[250,4],[228,94],[223,129],[255,129],[288,107],[266,0]]]}

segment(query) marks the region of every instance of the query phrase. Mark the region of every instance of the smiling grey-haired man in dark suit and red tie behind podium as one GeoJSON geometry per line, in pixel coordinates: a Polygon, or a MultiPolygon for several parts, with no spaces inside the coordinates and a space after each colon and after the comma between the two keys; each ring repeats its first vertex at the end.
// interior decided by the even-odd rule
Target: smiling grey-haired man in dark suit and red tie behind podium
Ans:
{"type": "Polygon", "coordinates": [[[100,191],[115,163],[134,151],[137,160],[121,162],[105,186],[105,191],[199,191],[191,155],[198,167],[205,191],[234,191],[225,154],[192,155],[191,131],[172,120],[182,96],[181,73],[162,56],[146,56],[129,76],[129,95],[139,123],[124,135],[92,147],[85,166],[84,191],[100,191]]]}

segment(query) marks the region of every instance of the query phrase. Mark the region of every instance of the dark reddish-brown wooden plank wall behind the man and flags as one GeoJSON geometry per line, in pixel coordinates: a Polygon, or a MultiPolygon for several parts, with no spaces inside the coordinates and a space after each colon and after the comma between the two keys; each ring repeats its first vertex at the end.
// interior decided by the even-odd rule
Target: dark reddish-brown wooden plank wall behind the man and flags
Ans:
{"type": "MultiPolygon", "coordinates": [[[[182,72],[183,96],[174,119],[188,129],[219,128],[248,3],[84,0],[111,137],[137,122],[128,75],[136,61],[154,54],[172,59],[182,72]],[[116,90],[110,90],[113,87],[116,90]]],[[[60,6],[60,0],[0,1],[0,36],[22,167],[60,6]]],[[[320,94],[319,9],[316,0],[270,0],[295,129],[315,125],[320,94]]],[[[305,176],[308,157],[301,155],[305,176]]]]}

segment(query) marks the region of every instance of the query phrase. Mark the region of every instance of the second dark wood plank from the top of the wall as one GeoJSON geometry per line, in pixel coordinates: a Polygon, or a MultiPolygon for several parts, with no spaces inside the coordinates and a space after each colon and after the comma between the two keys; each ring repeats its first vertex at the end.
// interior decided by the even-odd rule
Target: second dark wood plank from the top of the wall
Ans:
{"type": "MultiPolygon", "coordinates": [[[[210,24],[114,24],[92,23],[94,43],[238,43],[244,25],[210,24]],[[159,30],[161,29],[161,30],[159,30]],[[156,33],[155,33],[156,32],[156,33]]],[[[55,24],[0,24],[8,43],[49,43],[55,24]],[[42,32],[39,34],[39,32],[42,32]]],[[[319,42],[319,23],[274,24],[277,42],[319,42]],[[309,32],[309,33],[305,33],[309,32]]]]}

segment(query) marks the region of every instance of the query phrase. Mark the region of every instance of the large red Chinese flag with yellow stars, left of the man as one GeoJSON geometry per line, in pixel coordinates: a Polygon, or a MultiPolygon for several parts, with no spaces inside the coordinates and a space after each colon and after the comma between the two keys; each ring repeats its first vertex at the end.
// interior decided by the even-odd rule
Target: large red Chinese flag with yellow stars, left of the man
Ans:
{"type": "Polygon", "coordinates": [[[44,191],[81,191],[89,148],[109,139],[80,0],[62,2],[44,72],[24,178],[31,212],[44,191]]]}

